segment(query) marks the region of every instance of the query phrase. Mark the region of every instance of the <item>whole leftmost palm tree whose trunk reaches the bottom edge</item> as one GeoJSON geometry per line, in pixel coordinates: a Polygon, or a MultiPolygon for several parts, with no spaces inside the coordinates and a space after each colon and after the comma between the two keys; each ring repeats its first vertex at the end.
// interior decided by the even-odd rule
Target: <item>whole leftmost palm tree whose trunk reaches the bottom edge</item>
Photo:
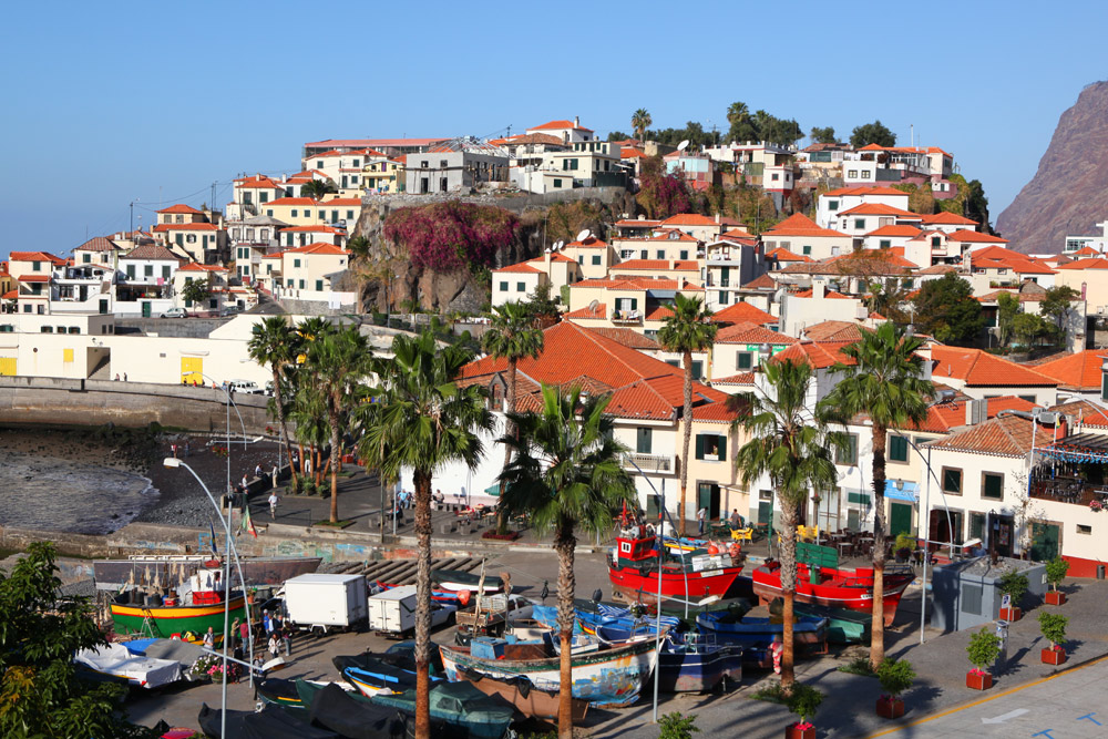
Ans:
{"type": "Polygon", "coordinates": [[[416,485],[416,736],[431,731],[431,478],[449,464],[476,466],[483,453],[479,437],[492,430],[484,388],[460,387],[455,380],[471,355],[459,347],[439,347],[430,331],[397,336],[391,359],[377,359],[380,387],[375,402],[359,406],[365,434],[361,458],[399,480],[411,470],[416,485]]]}

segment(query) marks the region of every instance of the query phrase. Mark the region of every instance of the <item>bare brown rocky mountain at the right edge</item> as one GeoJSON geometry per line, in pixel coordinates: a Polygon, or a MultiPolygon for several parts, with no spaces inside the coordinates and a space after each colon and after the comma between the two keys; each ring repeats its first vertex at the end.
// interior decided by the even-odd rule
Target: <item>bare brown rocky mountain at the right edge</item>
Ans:
{"type": "Polygon", "coordinates": [[[1020,252],[1061,252],[1066,234],[1108,218],[1108,82],[1095,82],[1058,119],[1038,172],[996,219],[1020,252]]]}

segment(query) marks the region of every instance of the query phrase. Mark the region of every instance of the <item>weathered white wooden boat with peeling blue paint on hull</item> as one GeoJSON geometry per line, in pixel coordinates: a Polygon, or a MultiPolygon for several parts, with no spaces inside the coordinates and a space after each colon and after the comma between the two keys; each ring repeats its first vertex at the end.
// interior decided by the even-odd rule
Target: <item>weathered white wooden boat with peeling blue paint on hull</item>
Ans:
{"type": "MultiPolygon", "coordinates": [[[[460,679],[459,670],[464,668],[504,679],[522,675],[541,690],[556,691],[561,684],[561,660],[550,634],[542,644],[505,644],[502,658],[496,659],[474,657],[466,647],[442,645],[439,650],[447,676],[452,680],[460,679]]],[[[654,673],[657,658],[653,639],[604,645],[596,651],[574,655],[573,697],[594,706],[629,706],[654,673]]]]}

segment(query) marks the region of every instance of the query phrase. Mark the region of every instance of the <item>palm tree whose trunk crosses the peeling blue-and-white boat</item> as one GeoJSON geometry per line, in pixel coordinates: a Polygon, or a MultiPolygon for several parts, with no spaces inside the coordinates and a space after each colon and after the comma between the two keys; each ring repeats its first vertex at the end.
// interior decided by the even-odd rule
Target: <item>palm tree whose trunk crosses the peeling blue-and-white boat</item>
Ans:
{"type": "Polygon", "coordinates": [[[514,413],[519,437],[500,441],[515,459],[501,480],[507,483],[504,504],[526,513],[538,535],[554,533],[557,552],[557,625],[562,643],[557,728],[560,739],[572,739],[572,649],[574,622],[574,530],[607,531],[619,505],[633,499],[635,486],[620,465],[625,451],[613,440],[613,421],[605,411],[611,396],[583,397],[579,387],[564,392],[543,386],[538,413],[514,413]]]}

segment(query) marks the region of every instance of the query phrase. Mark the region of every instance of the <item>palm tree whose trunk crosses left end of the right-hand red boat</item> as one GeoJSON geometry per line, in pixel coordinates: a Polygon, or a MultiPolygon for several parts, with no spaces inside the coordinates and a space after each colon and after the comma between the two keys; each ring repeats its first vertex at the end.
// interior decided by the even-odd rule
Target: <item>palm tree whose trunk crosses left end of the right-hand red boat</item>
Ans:
{"type": "MultiPolygon", "coordinates": [[[[809,491],[827,490],[838,481],[829,447],[842,443],[841,435],[829,432],[821,418],[807,410],[812,368],[791,359],[762,366],[769,393],[736,396],[729,401],[740,415],[750,441],[739,448],[735,464],[745,485],[769,475],[781,506],[781,595],[783,608],[783,647],[781,685],[793,681],[793,597],[797,593],[797,520],[809,491]]],[[[771,532],[772,533],[772,532],[771,532]]]]}

